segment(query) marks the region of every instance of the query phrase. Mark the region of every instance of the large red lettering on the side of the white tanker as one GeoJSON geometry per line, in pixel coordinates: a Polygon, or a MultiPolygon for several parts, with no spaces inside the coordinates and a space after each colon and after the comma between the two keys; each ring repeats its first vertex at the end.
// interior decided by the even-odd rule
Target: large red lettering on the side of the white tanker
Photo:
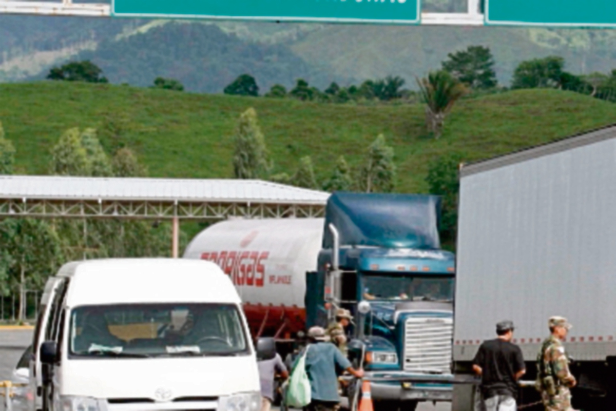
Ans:
{"type": "MultiPolygon", "coordinates": [[[[268,257],[268,251],[214,251],[201,253],[201,260],[216,263],[225,274],[231,277],[233,284],[250,285],[252,287],[263,287],[265,283],[265,265],[263,262],[268,257]]],[[[290,282],[284,284],[290,284],[290,282]]]]}

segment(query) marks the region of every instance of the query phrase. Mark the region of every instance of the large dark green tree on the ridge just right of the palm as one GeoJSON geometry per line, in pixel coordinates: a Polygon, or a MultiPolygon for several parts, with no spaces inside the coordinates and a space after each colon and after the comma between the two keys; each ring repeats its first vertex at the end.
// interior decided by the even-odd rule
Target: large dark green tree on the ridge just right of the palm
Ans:
{"type": "Polygon", "coordinates": [[[466,50],[450,53],[442,66],[443,70],[471,89],[496,87],[494,58],[488,47],[469,46],[466,50]]]}

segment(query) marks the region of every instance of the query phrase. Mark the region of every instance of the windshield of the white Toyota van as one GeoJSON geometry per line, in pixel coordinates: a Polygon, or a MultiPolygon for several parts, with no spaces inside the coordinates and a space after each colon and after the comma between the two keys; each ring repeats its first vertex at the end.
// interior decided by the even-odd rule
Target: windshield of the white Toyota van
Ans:
{"type": "Polygon", "coordinates": [[[223,356],[248,352],[237,306],[134,304],[71,311],[78,357],[223,356]]]}

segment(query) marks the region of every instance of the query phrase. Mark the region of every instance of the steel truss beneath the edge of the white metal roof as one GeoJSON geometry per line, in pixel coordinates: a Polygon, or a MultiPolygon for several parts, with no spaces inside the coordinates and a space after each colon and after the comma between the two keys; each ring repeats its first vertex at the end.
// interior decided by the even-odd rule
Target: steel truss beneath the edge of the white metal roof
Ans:
{"type": "Polygon", "coordinates": [[[254,202],[0,199],[0,217],[224,220],[323,217],[325,206],[254,202]]]}

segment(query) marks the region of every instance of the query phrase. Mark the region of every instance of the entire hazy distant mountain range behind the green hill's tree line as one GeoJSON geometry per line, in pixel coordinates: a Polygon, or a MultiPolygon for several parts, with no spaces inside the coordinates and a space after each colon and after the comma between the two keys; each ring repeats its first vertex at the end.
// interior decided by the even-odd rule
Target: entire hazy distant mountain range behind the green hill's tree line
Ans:
{"type": "MultiPolygon", "coordinates": [[[[433,10],[460,9],[432,0],[433,10]]],[[[573,73],[616,68],[616,31],[538,28],[169,22],[103,18],[0,16],[0,81],[43,78],[49,67],[91,58],[112,82],[146,86],[177,78],[188,90],[222,92],[243,73],[261,90],[297,78],[323,88],[440,67],[447,54],[490,47],[501,84],[522,60],[561,55],[573,73]]]]}

